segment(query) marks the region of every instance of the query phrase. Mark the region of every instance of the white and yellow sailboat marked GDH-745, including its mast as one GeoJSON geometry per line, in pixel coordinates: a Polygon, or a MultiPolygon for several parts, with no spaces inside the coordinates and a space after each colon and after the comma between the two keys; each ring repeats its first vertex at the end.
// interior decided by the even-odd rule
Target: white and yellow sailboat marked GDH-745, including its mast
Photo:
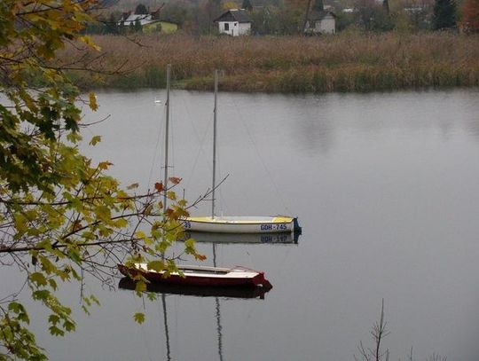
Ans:
{"type": "Polygon", "coordinates": [[[216,114],[217,114],[218,71],[215,71],[215,107],[213,121],[213,184],[211,187],[211,216],[189,216],[184,227],[192,232],[212,233],[301,233],[298,220],[293,216],[216,216],[216,114]]]}

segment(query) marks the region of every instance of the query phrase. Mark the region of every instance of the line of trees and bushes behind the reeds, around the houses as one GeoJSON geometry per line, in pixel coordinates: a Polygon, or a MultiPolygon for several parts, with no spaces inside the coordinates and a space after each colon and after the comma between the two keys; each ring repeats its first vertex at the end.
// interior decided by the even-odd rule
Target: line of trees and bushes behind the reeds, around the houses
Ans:
{"type": "MultiPolygon", "coordinates": [[[[252,20],[252,35],[301,34],[305,13],[310,9],[334,12],[336,31],[419,31],[460,30],[479,32],[479,0],[202,0],[164,4],[157,20],[177,24],[191,35],[216,35],[214,20],[228,9],[245,9],[252,20]],[[312,3],[312,4],[311,4],[312,3]]],[[[149,13],[145,4],[137,4],[136,14],[149,13]]],[[[112,8],[102,12],[98,21],[86,29],[90,34],[140,33],[139,21],[122,24],[124,12],[112,8]]],[[[161,27],[158,29],[161,32],[161,27]]]]}

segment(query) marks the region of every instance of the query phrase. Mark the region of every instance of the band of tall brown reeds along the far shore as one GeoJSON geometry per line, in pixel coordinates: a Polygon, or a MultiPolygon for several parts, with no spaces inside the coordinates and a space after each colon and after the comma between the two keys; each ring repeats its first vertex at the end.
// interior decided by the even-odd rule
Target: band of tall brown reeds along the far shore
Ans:
{"type": "MultiPolygon", "coordinates": [[[[324,37],[193,37],[143,35],[129,41],[98,36],[97,67],[122,75],[71,73],[84,89],[164,87],[171,63],[177,88],[211,90],[214,69],[222,90],[326,92],[478,86],[479,36],[359,35],[324,37]]],[[[75,48],[60,59],[78,57],[75,48]]],[[[95,60],[94,60],[95,59],[95,60]]]]}

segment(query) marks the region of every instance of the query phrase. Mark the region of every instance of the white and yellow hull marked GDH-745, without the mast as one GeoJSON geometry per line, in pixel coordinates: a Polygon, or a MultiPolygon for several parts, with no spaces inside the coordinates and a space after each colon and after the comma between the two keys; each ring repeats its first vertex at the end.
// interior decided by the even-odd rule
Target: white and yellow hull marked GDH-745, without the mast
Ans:
{"type": "Polygon", "coordinates": [[[300,230],[296,218],[285,216],[187,217],[184,219],[183,226],[185,231],[238,234],[286,233],[300,230]]]}

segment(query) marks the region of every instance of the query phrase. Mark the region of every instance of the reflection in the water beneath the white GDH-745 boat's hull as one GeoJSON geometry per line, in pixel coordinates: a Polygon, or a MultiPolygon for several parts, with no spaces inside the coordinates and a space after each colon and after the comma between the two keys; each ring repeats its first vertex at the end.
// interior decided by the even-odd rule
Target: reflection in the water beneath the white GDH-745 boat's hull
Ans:
{"type": "Polygon", "coordinates": [[[185,239],[210,243],[263,243],[263,244],[298,244],[300,233],[210,233],[185,232],[185,239]]]}

